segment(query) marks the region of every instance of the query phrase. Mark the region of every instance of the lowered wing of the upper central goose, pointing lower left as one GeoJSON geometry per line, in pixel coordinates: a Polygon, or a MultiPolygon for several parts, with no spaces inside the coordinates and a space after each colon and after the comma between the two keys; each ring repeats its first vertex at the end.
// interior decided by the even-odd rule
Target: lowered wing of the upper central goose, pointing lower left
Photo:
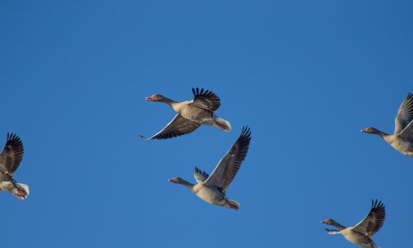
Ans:
{"type": "Polygon", "coordinates": [[[195,129],[200,127],[200,125],[200,123],[189,121],[182,115],[177,114],[175,118],[173,118],[173,120],[170,123],[168,123],[168,125],[164,129],[158,132],[158,134],[155,134],[150,138],[145,138],[142,135],[139,136],[144,140],[174,138],[184,134],[189,134],[190,132],[193,132],[195,129]]]}

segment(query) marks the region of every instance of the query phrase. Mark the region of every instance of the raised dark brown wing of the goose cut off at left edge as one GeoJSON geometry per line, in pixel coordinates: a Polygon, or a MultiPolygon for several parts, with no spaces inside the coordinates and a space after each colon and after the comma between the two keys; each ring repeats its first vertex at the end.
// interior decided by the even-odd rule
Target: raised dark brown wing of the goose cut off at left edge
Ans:
{"type": "Polygon", "coordinates": [[[23,158],[23,143],[16,134],[7,134],[6,145],[0,154],[0,171],[7,172],[10,176],[19,167],[23,158]]]}

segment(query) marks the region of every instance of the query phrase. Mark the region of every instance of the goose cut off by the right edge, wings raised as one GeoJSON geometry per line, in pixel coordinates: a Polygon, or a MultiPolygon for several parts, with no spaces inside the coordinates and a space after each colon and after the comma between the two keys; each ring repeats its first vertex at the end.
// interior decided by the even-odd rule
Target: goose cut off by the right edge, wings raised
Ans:
{"type": "Polygon", "coordinates": [[[394,149],[405,154],[413,156],[413,94],[407,94],[403,103],[399,107],[396,118],[394,119],[394,134],[386,134],[374,127],[367,127],[361,132],[376,134],[381,136],[385,142],[389,143],[394,149]]]}

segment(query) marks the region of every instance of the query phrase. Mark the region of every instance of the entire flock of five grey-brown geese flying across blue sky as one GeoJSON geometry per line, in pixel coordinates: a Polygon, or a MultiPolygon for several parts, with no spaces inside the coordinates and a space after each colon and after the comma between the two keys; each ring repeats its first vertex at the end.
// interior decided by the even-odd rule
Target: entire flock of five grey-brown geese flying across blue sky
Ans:
{"type": "MultiPolygon", "coordinates": [[[[220,98],[209,90],[192,89],[193,100],[177,102],[168,99],[160,94],[153,94],[146,98],[147,101],[166,103],[177,112],[173,120],[157,134],[149,139],[165,139],[182,136],[195,131],[200,125],[211,125],[220,130],[231,131],[229,121],[219,118],[215,111],[220,107],[220,98]]],[[[386,134],[374,127],[367,127],[361,132],[376,134],[389,143],[394,149],[413,156],[413,94],[407,94],[403,103],[399,107],[395,118],[394,134],[386,134]]],[[[251,143],[251,130],[249,127],[242,127],[240,136],[229,148],[229,151],[221,158],[211,175],[195,167],[194,178],[197,184],[189,183],[179,177],[169,179],[169,182],[184,185],[196,196],[211,203],[231,209],[239,209],[240,203],[230,200],[226,196],[226,189],[229,187],[248,153],[251,143]]],[[[23,143],[16,134],[7,134],[6,145],[0,154],[0,192],[5,190],[12,193],[19,200],[24,200],[29,195],[29,187],[23,183],[17,183],[13,178],[14,172],[23,158],[23,143]]],[[[379,248],[372,240],[372,236],[383,226],[385,219],[385,207],[377,200],[372,201],[370,212],[354,227],[344,227],[335,220],[326,219],[321,221],[326,225],[332,225],[337,229],[326,229],[328,234],[341,234],[348,241],[363,248],[379,248]]]]}

